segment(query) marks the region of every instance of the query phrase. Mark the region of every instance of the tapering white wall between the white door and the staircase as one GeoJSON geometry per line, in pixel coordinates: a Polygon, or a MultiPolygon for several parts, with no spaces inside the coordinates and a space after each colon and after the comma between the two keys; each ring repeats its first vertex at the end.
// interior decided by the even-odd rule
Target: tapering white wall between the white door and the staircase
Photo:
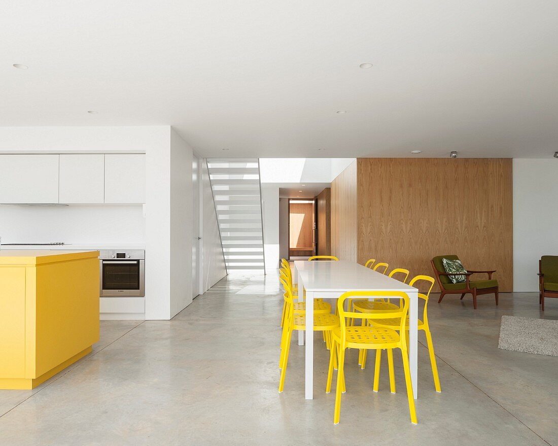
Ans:
{"type": "Polygon", "coordinates": [[[209,171],[206,160],[201,166],[201,188],[203,200],[203,232],[201,236],[203,246],[203,289],[207,291],[219,280],[227,275],[223,246],[215,214],[213,192],[209,181],[209,171]]]}

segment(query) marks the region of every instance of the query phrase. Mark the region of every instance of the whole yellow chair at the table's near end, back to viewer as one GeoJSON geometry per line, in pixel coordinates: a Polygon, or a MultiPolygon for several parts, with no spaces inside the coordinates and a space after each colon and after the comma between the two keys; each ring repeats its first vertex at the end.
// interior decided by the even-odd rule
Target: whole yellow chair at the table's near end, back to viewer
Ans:
{"type": "Polygon", "coordinates": [[[344,376],[344,362],[345,362],[345,349],[358,348],[365,350],[376,350],[376,363],[377,372],[374,377],[374,387],[377,390],[377,376],[379,376],[379,361],[382,349],[388,350],[388,355],[393,355],[393,349],[399,348],[401,350],[401,357],[403,359],[403,370],[405,371],[405,382],[407,384],[407,398],[409,401],[409,412],[411,415],[411,423],[417,424],[417,416],[415,411],[415,400],[413,399],[413,389],[411,383],[411,371],[409,367],[409,358],[407,351],[407,343],[404,336],[397,333],[396,329],[377,327],[375,325],[367,325],[364,327],[354,327],[347,325],[347,318],[364,318],[364,319],[378,319],[378,320],[398,320],[399,325],[396,327],[400,330],[405,329],[405,321],[407,319],[409,309],[409,298],[401,291],[348,291],[340,296],[337,301],[337,309],[339,311],[340,326],[333,329],[331,336],[333,337],[334,346],[331,347],[329,370],[328,370],[328,383],[325,391],[331,391],[331,380],[333,378],[333,368],[335,363],[335,355],[338,354],[338,370],[337,370],[337,389],[335,394],[335,412],[333,423],[338,424],[341,414],[341,393],[345,390],[345,376],[344,376]],[[352,313],[345,311],[345,300],[349,298],[358,298],[361,296],[393,296],[394,298],[402,299],[401,307],[390,310],[380,310],[374,314],[366,313],[352,313]],[[336,347],[339,348],[336,348],[336,347]],[[337,350],[339,350],[337,352],[337,350]]]}

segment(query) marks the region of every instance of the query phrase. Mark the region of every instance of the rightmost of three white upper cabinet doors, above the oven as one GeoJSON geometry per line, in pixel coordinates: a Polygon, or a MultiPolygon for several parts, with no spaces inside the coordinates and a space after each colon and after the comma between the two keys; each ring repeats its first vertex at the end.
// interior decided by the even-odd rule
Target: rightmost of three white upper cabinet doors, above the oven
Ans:
{"type": "Polygon", "coordinates": [[[145,203],[145,155],[105,155],[105,203],[145,203]]]}

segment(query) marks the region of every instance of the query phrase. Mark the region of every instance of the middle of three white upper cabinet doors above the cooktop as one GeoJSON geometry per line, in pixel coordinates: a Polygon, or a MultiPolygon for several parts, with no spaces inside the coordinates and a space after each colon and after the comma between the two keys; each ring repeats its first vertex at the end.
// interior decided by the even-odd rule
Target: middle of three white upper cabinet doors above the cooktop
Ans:
{"type": "Polygon", "coordinates": [[[104,203],[104,155],[60,155],[60,203],[104,203]]]}

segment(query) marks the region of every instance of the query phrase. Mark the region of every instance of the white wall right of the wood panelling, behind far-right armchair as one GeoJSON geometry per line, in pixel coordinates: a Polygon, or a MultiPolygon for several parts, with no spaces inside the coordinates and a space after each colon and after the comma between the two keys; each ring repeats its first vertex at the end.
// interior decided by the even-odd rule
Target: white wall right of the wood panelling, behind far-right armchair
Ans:
{"type": "Polygon", "coordinates": [[[558,256],[558,160],[513,160],[513,290],[538,291],[538,261],[558,256]]]}

